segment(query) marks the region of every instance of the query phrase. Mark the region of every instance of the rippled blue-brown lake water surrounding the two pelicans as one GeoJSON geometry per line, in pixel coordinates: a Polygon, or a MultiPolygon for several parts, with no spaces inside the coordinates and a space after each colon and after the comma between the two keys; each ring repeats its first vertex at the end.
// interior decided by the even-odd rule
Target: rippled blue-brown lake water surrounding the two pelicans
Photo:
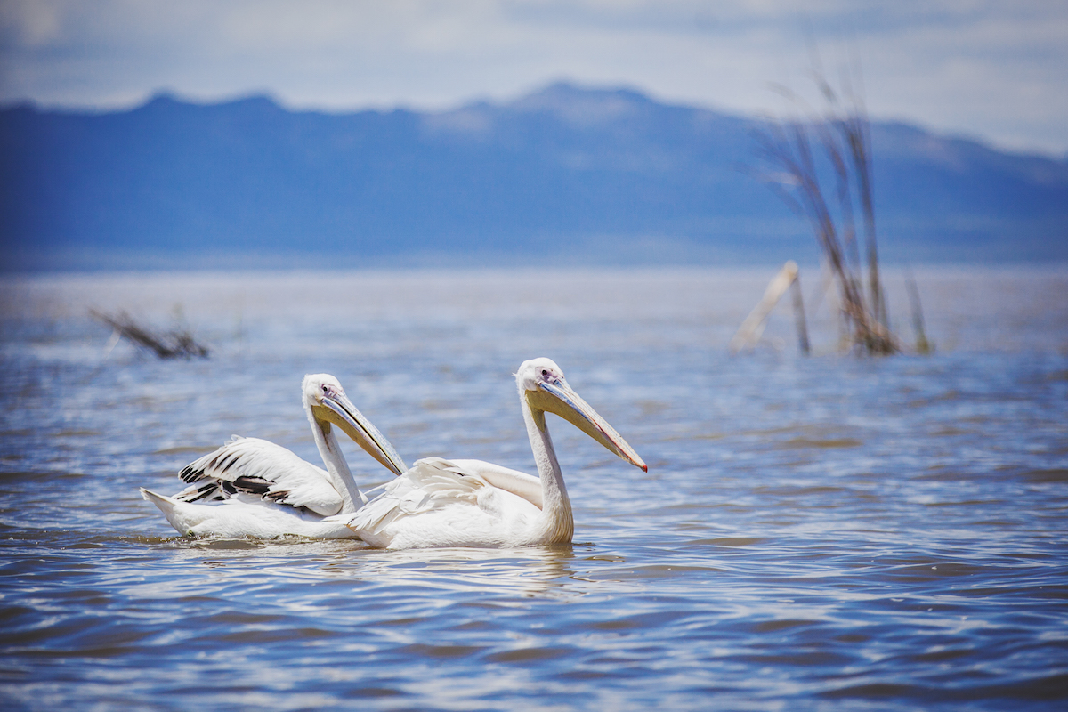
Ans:
{"type": "Polygon", "coordinates": [[[917,270],[930,357],[836,353],[827,300],[814,357],[785,304],[731,357],[773,272],[2,278],[0,705],[1065,709],[1068,268],[917,270]],[[109,349],[90,307],[211,357],[109,349]],[[574,545],[191,540],[138,493],[232,433],[318,461],[316,371],[409,463],[533,472],[537,355],[649,465],[550,418],[574,545]]]}

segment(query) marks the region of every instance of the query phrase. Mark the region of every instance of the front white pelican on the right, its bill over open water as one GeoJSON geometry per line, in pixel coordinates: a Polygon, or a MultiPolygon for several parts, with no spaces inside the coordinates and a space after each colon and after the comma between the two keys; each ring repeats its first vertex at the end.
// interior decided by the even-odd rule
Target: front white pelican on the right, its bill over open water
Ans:
{"type": "Polygon", "coordinates": [[[540,477],[481,460],[427,458],[387,484],[348,526],[380,549],[569,543],[575,533],[571,502],[546,412],[648,472],[638,453],[571,390],[564,371],[549,359],[524,361],[516,384],[540,477]]]}

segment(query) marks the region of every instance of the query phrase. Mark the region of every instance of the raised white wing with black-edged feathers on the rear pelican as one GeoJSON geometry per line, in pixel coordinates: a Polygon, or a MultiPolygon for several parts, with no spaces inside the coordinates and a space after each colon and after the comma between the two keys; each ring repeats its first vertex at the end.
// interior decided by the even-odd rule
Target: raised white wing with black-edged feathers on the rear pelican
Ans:
{"type": "Polygon", "coordinates": [[[341,511],[343,500],[327,473],[297,457],[293,452],[258,438],[234,436],[225,445],[182,469],[182,479],[192,485],[177,499],[193,502],[246,492],[265,500],[304,507],[329,517],[341,511]],[[193,485],[204,479],[210,484],[193,485]]]}

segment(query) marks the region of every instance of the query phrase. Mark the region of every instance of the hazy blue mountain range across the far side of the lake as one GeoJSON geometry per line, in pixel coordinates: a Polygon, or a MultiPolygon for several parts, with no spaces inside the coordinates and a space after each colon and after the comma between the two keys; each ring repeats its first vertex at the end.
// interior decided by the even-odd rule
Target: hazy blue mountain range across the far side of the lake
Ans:
{"type": "MultiPolygon", "coordinates": [[[[568,84],[454,111],[0,111],[6,269],[815,260],[758,120],[568,84]]],[[[871,127],[888,262],[1068,259],[1068,161],[871,127]]]]}

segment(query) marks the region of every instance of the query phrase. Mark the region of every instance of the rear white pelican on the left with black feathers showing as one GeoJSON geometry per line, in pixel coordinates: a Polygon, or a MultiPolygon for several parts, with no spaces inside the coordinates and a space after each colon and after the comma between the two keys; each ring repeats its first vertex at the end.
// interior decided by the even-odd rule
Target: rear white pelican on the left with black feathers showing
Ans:
{"type": "Polygon", "coordinates": [[[356,409],[336,378],[305,376],[302,389],[304,411],[326,470],[272,442],[234,436],[182,470],[182,479],[189,482],[185,490],[164,496],[142,487],[141,495],[159,507],[179,534],[188,536],[355,538],[345,523],[359,506],[357,497],[367,499],[352,478],[332,426],[394,473],[399,475],[407,466],[356,409]]]}

